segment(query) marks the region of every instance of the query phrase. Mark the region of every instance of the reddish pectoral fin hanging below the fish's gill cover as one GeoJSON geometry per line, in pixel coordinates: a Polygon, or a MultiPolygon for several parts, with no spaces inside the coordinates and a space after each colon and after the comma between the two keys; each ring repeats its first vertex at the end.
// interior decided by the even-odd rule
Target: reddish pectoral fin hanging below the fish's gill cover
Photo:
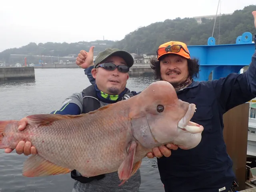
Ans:
{"type": "Polygon", "coordinates": [[[135,141],[132,141],[130,144],[130,148],[128,150],[128,155],[118,168],[118,176],[120,180],[128,180],[130,178],[130,174],[132,172],[132,166],[134,161],[134,156],[136,152],[137,144],[135,141]]]}

